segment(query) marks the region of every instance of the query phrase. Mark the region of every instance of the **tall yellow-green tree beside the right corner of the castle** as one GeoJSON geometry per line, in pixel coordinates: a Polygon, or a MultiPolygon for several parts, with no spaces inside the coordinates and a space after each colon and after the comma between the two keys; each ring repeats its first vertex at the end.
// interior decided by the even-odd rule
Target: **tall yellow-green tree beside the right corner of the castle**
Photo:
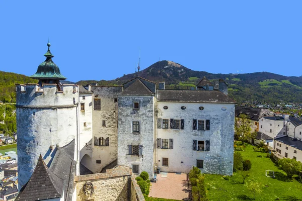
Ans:
{"type": "Polygon", "coordinates": [[[240,114],[239,118],[235,119],[235,135],[241,140],[242,144],[244,141],[251,139],[255,134],[251,134],[251,120],[249,116],[240,114]]]}

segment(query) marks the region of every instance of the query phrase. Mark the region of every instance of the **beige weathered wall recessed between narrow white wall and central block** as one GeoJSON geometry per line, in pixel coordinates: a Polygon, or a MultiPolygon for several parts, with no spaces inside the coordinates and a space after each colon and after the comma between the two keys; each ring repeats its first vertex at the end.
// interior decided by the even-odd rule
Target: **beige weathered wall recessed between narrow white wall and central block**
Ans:
{"type": "Polygon", "coordinates": [[[99,173],[103,167],[117,159],[117,98],[122,92],[120,86],[91,86],[94,92],[92,97],[92,168],[91,171],[99,173]],[[94,97],[101,98],[101,110],[94,110],[94,97]],[[103,126],[103,120],[106,126],[103,126]],[[109,137],[109,146],[94,146],[93,137],[109,137]],[[96,160],[101,160],[101,164],[97,164],[96,160]]]}

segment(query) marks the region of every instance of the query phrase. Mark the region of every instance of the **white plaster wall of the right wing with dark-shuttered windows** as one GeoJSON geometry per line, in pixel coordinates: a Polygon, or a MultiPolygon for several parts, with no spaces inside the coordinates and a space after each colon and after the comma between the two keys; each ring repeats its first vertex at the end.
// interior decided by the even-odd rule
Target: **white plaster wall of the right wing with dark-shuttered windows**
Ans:
{"type": "Polygon", "coordinates": [[[156,148],[156,161],[161,171],[189,172],[199,159],[204,160],[202,172],[233,174],[234,104],[158,102],[158,111],[158,118],[185,120],[184,130],[157,129],[157,138],[174,141],[173,149],[156,148]],[[168,110],[164,110],[164,106],[168,106],[168,110]],[[181,110],[182,106],[186,109],[181,110]],[[199,110],[200,106],[204,110],[199,110]],[[226,110],[222,111],[222,107],[226,110]],[[193,130],[193,119],[210,120],[210,130],[193,130]],[[210,140],[210,151],[193,151],[193,140],[210,140]],[[163,157],[169,158],[168,167],[162,166],[163,157]]]}

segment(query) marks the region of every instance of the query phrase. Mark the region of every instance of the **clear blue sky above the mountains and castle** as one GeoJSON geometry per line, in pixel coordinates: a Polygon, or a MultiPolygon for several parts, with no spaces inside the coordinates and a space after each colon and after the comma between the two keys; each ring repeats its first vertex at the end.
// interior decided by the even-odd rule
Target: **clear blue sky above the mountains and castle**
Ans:
{"type": "Polygon", "coordinates": [[[50,38],[70,81],[161,60],[211,73],[300,76],[302,1],[0,1],[0,70],[34,74],[50,38]]]}

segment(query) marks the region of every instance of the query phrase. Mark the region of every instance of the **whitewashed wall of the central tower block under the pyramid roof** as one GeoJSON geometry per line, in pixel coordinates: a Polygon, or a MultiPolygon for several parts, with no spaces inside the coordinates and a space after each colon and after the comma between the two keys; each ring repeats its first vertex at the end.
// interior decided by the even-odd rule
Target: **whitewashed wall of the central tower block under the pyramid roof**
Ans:
{"type": "Polygon", "coordinates": [[[154,96],[118,96],[118,164],[139,165],[139,173],[153,177],[154,165],[154,96]],[[139,102],[139,110],[133,110],[139,102]],[[140,133],[132,133],[132,121],[140,122],[140,133]],[[143,156],[128,155],[128,145],[142,145],[143,156]]]}

